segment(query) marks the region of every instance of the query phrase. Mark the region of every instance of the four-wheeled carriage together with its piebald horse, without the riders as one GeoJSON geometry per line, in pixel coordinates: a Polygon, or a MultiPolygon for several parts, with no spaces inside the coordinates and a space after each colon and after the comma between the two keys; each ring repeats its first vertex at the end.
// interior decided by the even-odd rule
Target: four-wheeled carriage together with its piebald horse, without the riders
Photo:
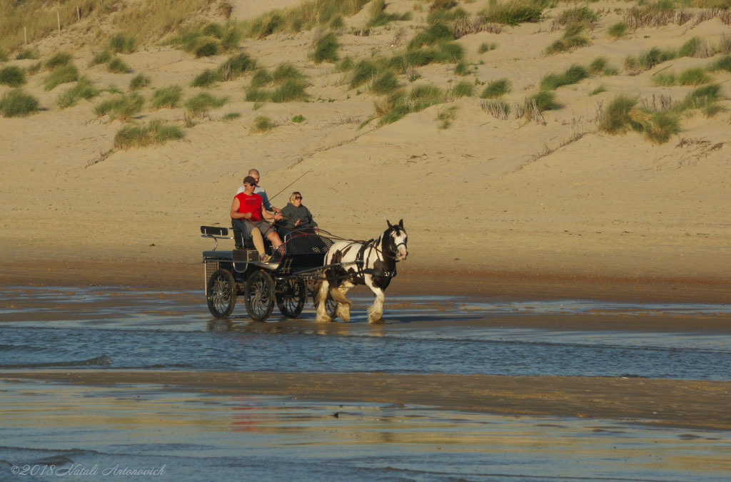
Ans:
{"type": "Polygon", "coordinates": [[[236,226],[200,226],[200,233],[216,243],[203,251],[205,297],[215,318],[228,318],[243,295],[246,313],[255,321],[269,318],[275,304],[285,317],[297,318],[310,298],[317,304],[317,321],[336,315],[349,321],[345,294],[362,283],[375,296],[368,323],[382,323],[385,288],[396,274],[395,263],[408,254],[403,221],[389,222],[380,237],[368,241],[344,240],[322,229],[287,232],[276,250],[265,240],[268,261],[260,260],[236,226]],[[235,246],[218,250],[219,240],[233,240],[235,246]]]}

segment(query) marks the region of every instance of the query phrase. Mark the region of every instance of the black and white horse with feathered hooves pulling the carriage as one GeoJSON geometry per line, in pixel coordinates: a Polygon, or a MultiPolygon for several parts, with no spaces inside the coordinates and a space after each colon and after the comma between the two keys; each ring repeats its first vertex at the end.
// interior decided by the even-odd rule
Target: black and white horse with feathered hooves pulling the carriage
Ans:
{"type": "Polygon", "coordinates": [[[388,229],[377,240],[366,242],[338,241],[330,246],[325,255],[325,279],[319,282],[317,291],[317,322],[328,323],[333,318],[325,309],[327,291],[338,303],[336,315],[343,321],[350,320],[350,300],[345,294],[355,285],[365,284],[376,295],[368,308],[368,323],[383,323],[384,291],[396,275],[396,262],[404,261],[406,250],[406,229],[404,220],[388,229]]]}

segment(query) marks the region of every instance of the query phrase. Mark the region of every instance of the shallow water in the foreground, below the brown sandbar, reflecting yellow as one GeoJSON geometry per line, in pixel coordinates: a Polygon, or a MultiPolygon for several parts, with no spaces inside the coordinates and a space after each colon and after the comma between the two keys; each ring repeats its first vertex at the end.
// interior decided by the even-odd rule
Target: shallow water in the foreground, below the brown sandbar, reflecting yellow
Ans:
{"type": "Polygon", "coordinates": [[[109,480],[127,468],[164,469],[120,475],[133,481],[705,482],[730,468],[729,432],[151,385],[4,381],[0,393],[0,480],[50,465],[54,475],[7,480],[109,480]]]}

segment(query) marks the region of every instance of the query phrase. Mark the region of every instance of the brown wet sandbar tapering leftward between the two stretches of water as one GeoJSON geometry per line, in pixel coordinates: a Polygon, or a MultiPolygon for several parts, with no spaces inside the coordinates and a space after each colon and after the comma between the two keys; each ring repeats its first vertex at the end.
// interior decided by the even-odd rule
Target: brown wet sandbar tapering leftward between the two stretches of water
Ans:
{"type": "Polygon", "coordinates": [[[731,382],[718,381],[162,370],[6,371],[0,376],[94,386],[156,383],[173,390],[386,402],[511,415],[615,418],[731,430],[731,382]]]}

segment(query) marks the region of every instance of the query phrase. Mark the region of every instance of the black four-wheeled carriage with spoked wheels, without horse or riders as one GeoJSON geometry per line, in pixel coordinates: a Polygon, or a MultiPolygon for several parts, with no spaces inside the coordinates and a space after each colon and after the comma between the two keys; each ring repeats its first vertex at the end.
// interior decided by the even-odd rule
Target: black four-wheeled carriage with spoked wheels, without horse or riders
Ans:
{"type": "MultiPolygon", "coordinates": [[[[208,310],[216,318],[228,318],[240,296],[253,320],[265,321],[275,304],[285,317],[297,318],[307,299],[314,301],[325,253],[333,244],[322,231],[288,232],[276,250],[265,240],[271,258],[262,262],[251,240],[236,227],[200,226],[200,233],[216,242],[213,250],[203,251],[205,296],[208,310]],[[219,250],[219,240],[233,240],[235,247],[219,250]]],[[[327,310],[334,311],[335,307],[328,297],[327,310]]]]}

